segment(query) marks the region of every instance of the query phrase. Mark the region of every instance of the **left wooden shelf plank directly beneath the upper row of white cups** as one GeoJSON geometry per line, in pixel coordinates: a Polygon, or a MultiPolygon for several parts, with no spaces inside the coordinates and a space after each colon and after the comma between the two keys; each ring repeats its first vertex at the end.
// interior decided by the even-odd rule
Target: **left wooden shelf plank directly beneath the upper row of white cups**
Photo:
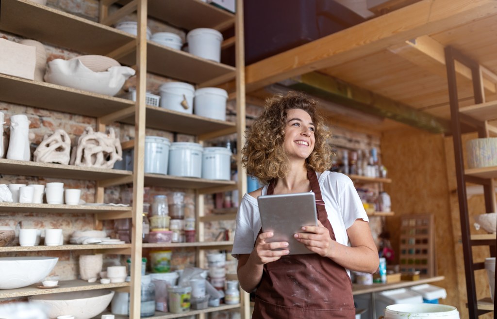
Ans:
{"type": "MultiPolygon", "coordinates": [[[[131,212],[132,207],[93,206],[93,205],[55,205],[0,202],[0,212],[19,213],[107,213],[131,212]]],[[[131,217],[131,215],[130,215],[131,217]]]]}

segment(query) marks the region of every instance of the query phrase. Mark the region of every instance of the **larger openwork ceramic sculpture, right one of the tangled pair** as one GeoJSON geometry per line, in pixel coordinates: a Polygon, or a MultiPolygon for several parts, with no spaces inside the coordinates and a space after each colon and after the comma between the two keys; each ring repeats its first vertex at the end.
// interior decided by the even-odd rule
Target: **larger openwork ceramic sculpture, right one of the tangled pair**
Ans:
{"type": "Polygon", "coordinates": [[[76,166],[112,168],[116,161],[122,160],[121,142],[113,128],[105,134],[87,127],[78,139],[73,155],[76,166]]]}

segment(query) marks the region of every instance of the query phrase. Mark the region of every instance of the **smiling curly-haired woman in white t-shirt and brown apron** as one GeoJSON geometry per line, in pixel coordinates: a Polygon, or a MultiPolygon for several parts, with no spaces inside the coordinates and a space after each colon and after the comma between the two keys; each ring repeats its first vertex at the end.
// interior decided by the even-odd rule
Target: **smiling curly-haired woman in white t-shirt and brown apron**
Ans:
{"type": "Polygon", "coordinates": [[[245,194],[237,215],[233,255],[241,287],[254,289],[252,318],[355,318],[348,270],[373,273],[378,251],[352,181],[331,167],[330,132],[316,102],[297,93],[267,101],[242,150],[249,175],[268,183],[245,194]],[[295,234],[315,254],[288,255],[287,242],[266,243],[257,197],[313,191],[318,226],[295,234]],[[350,247],[347,242],[350,241],[350,247]]]}

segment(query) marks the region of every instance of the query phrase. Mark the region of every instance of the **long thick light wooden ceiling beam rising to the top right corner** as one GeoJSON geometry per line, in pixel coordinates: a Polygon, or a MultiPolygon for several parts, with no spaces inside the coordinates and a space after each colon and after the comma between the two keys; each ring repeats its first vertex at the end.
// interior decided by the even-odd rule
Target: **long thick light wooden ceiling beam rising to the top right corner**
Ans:
{"type": "Polygon", "coordinates": [[[246,67],[247,92],[497,14],[495,0],[421,0],[246,67]]]}

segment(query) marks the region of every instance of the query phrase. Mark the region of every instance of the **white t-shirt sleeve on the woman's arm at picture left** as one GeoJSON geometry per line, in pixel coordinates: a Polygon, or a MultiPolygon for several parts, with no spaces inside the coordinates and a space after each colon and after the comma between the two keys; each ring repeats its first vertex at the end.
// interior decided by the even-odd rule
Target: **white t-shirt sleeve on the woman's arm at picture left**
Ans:
{"type": "MultiPolygon", "coordinates": [[[[250,254],[253,250],[256,234],[254,233],[254,214],[258,214],[258,207],[245,194],[237,213],[237,226],[231,254],[238,259],[240,254],[250,254]]],[[[256,223],[256,222],[255,222],[256,223]]],[[[260,222],[259,222],[260,223],[260,222]]]]}

